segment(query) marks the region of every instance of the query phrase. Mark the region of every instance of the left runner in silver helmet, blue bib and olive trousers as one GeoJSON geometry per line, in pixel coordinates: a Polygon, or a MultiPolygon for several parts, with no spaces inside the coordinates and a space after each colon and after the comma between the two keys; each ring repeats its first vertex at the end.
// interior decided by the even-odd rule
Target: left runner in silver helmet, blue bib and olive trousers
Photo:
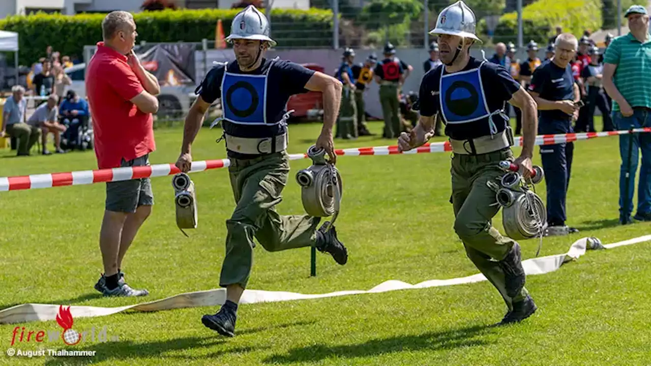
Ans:
{"type": "Polygon", "coordinates": [[[236,61],[215,66],[197,87],[199,98],[187,114],[176,167],[182,172],[191,169],[191,144],[208,107],[221,98],[230,184],[237,207],[226,221],[226,255],[219,279],[219,285],[226,287],[227,300],[215,315],[204,315],[201,321],[232,337],[238,302],[251,274],[254,236],[268,251],[315,246],[339,264],[346,263],[348,253],[329,223],[316,229],[320,218],[281,216],[274,208],[282,200],[290,170],[287,100],[307,91],[323,93],[324,127],[316,148],[324,148],[334,164],[332,128],[341,83],[289,61],[266,59],[266,50],[276,43],[269,37],[267,18],[253,5],[235,16],[230,32],[227,41],[233,43],[236,61]]]}

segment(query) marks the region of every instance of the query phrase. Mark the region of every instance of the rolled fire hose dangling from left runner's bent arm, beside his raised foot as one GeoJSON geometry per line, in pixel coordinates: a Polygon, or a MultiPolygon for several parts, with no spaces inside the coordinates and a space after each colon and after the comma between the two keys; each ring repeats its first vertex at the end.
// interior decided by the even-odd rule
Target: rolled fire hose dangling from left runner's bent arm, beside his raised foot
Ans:
{"type": "Polygon", "coordinates": [[[339,216],[342,196],[342,182],[339,170],[326,161],[326,150],[312,145],[307,150],[312,165],[296,173],[296,182],[301,186],[301,200],[308,215],[325,218],[333,216],[330,225],[339,216]]]}

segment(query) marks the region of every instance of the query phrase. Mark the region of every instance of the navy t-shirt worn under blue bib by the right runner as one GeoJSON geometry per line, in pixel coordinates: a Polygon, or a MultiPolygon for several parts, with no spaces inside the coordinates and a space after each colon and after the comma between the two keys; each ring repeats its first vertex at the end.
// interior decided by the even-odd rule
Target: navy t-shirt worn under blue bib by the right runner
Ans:
{"type": "MultiPolygon", "coordinates": [[[[480,64],[481,61],[475,59],[475,57],[470,57],[470,61],[461,72],[478,68],[480,64]]],[[[436,113],[441,113],[439,87],[441,71],[445,71],[444,68],[444,64],[439,64],[422,77],[419,105],[421,115],[424,117],[432,117],[436,113]]],[[[443,72],[443,74],[447,75],[448,73],[443,72]]],[[[505,102],[508,102],[513,94],[520,89],[518,81],[515,81],[511,73],[499,64],[485,62],[480,69],[480,76],[484,95],[486,96],[486,104],[488,104],[488,110],[491,112],[502,109],[505,102]]],[[[495,126],[497,126],[497,132],[505,130],[506,121],[503,117],[494,115],[492,118],[495,126]]],[[[455,140],[476,139],[477,137],[490,135],[488,117],[463,124],[447,124],[445,134],[455,140]]]]}

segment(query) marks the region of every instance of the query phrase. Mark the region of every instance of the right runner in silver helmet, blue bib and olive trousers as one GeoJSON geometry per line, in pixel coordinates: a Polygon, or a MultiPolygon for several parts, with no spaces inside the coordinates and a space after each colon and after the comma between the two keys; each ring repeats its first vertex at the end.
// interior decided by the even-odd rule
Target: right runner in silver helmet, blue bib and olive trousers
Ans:
{"type": "Polygon", "coordinates": [[[441,61],[422,78],[419,92],[421,118],[410,134],[402,133],[398,149],[411,150],[433,135],[436,115],[447,124],[452,146],[452,206],[454,231],[464,242],[469,259],[504,298],[508,313],[500,324],[519,322],[536,311],[525,289],[518,242],[502,236],[491,221],[499,211],[495,192],[486,184],[504,175],[499,162],[507,160],[531,176],[536,139],[536,104],[508,69],[471,57],[475,14],[463,1],[443,9],[430,31],[438,35],[441,61]],[[513,137],[506,102],[523,113],[523,147],[514,159],[513,137]]]}

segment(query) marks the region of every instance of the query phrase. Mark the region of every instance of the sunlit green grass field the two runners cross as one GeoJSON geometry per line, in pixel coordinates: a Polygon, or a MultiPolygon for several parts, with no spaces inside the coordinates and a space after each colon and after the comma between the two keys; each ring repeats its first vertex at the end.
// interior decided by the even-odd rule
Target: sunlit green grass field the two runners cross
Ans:
{"type": "MultiPolygon", "coordinates": [[[[381,132],[380,122],[372,122],[381,132]]],[[[318,124],[292,125],[290,153],[314,143],[318,124]]],[[[218,132],[202,129],[194,160],[224,158],[218,132]]],[[[173,163],[181,128],[156,130],[151,162],[173,163]]],[[[439,141],[443,141],[439,138],[439,141]]],[[[337,148],[393,145],[363,137],[335,141],[337,148]]],[[[516,149],[516,154],[519,151],[516,149]]],[[[14,158],[0,153],[0,176],[95,169],[93,152],[14,158]]],[[[383,281],[418,283],[478,272],[452,230],[450,155],[340,156],[344,181],[337,219],[349,261],[339,266],[318,253],[310,274],[310,249],[268,253],[257,246],[249,289],[323,293],[367,290],[383,281]]],[[[538,148],[534,163],[540,164],[538,148]]],[[[622,227],[618,219],[618,139],[575,143],[568,195],[568,224],[581,232],[545,238],[541,256],[565,253],[584,236],[604,244],[651,232],[649,223],[622,227]]],[[[303,208],[294,176],[309,160],[293,161],[284,214],[303,208]]],[[[176,228],[170,177],[153,179],[156,205],[123,265],[128,282],[146,298],[102,298],[92,287],[102,272],[98,244],[104,184],[0,193],[0,309],[19,303],[115,307],[181,292],[215,289],[225,248],[225,220],[234,208],[226,169],[196,173],[199,227],[176,228]]],[[[545,199],[544,183],[537,187],[545,199]]],[[[637,197],[637,193],[636,193],[637,197]]],[[[501,213],[494,225],[501,231],[501,213]]],[[[523,259],[537,240],[521,242],[523,259]]],[[[118,341],[81,343],[89,358],[9,358],[12,330],[0,326],[0,364],[100,365],[651,365],[651,246],[590,251],[577,262],[527,278],[539,310],[521,324],[493,328],[506,307],[487,281],[241,305],[236,337],[225,339],[201,324],[217,307],[77,318],[76,330],[107,327],[118,341]],[[645,285],[646,284],[646,285],[645,285]]],[[[54,321],[20,324],[25,330],[61,330],[54,321]]],[[[20,350],[64,348],[18,343],[20,350]]]]}

